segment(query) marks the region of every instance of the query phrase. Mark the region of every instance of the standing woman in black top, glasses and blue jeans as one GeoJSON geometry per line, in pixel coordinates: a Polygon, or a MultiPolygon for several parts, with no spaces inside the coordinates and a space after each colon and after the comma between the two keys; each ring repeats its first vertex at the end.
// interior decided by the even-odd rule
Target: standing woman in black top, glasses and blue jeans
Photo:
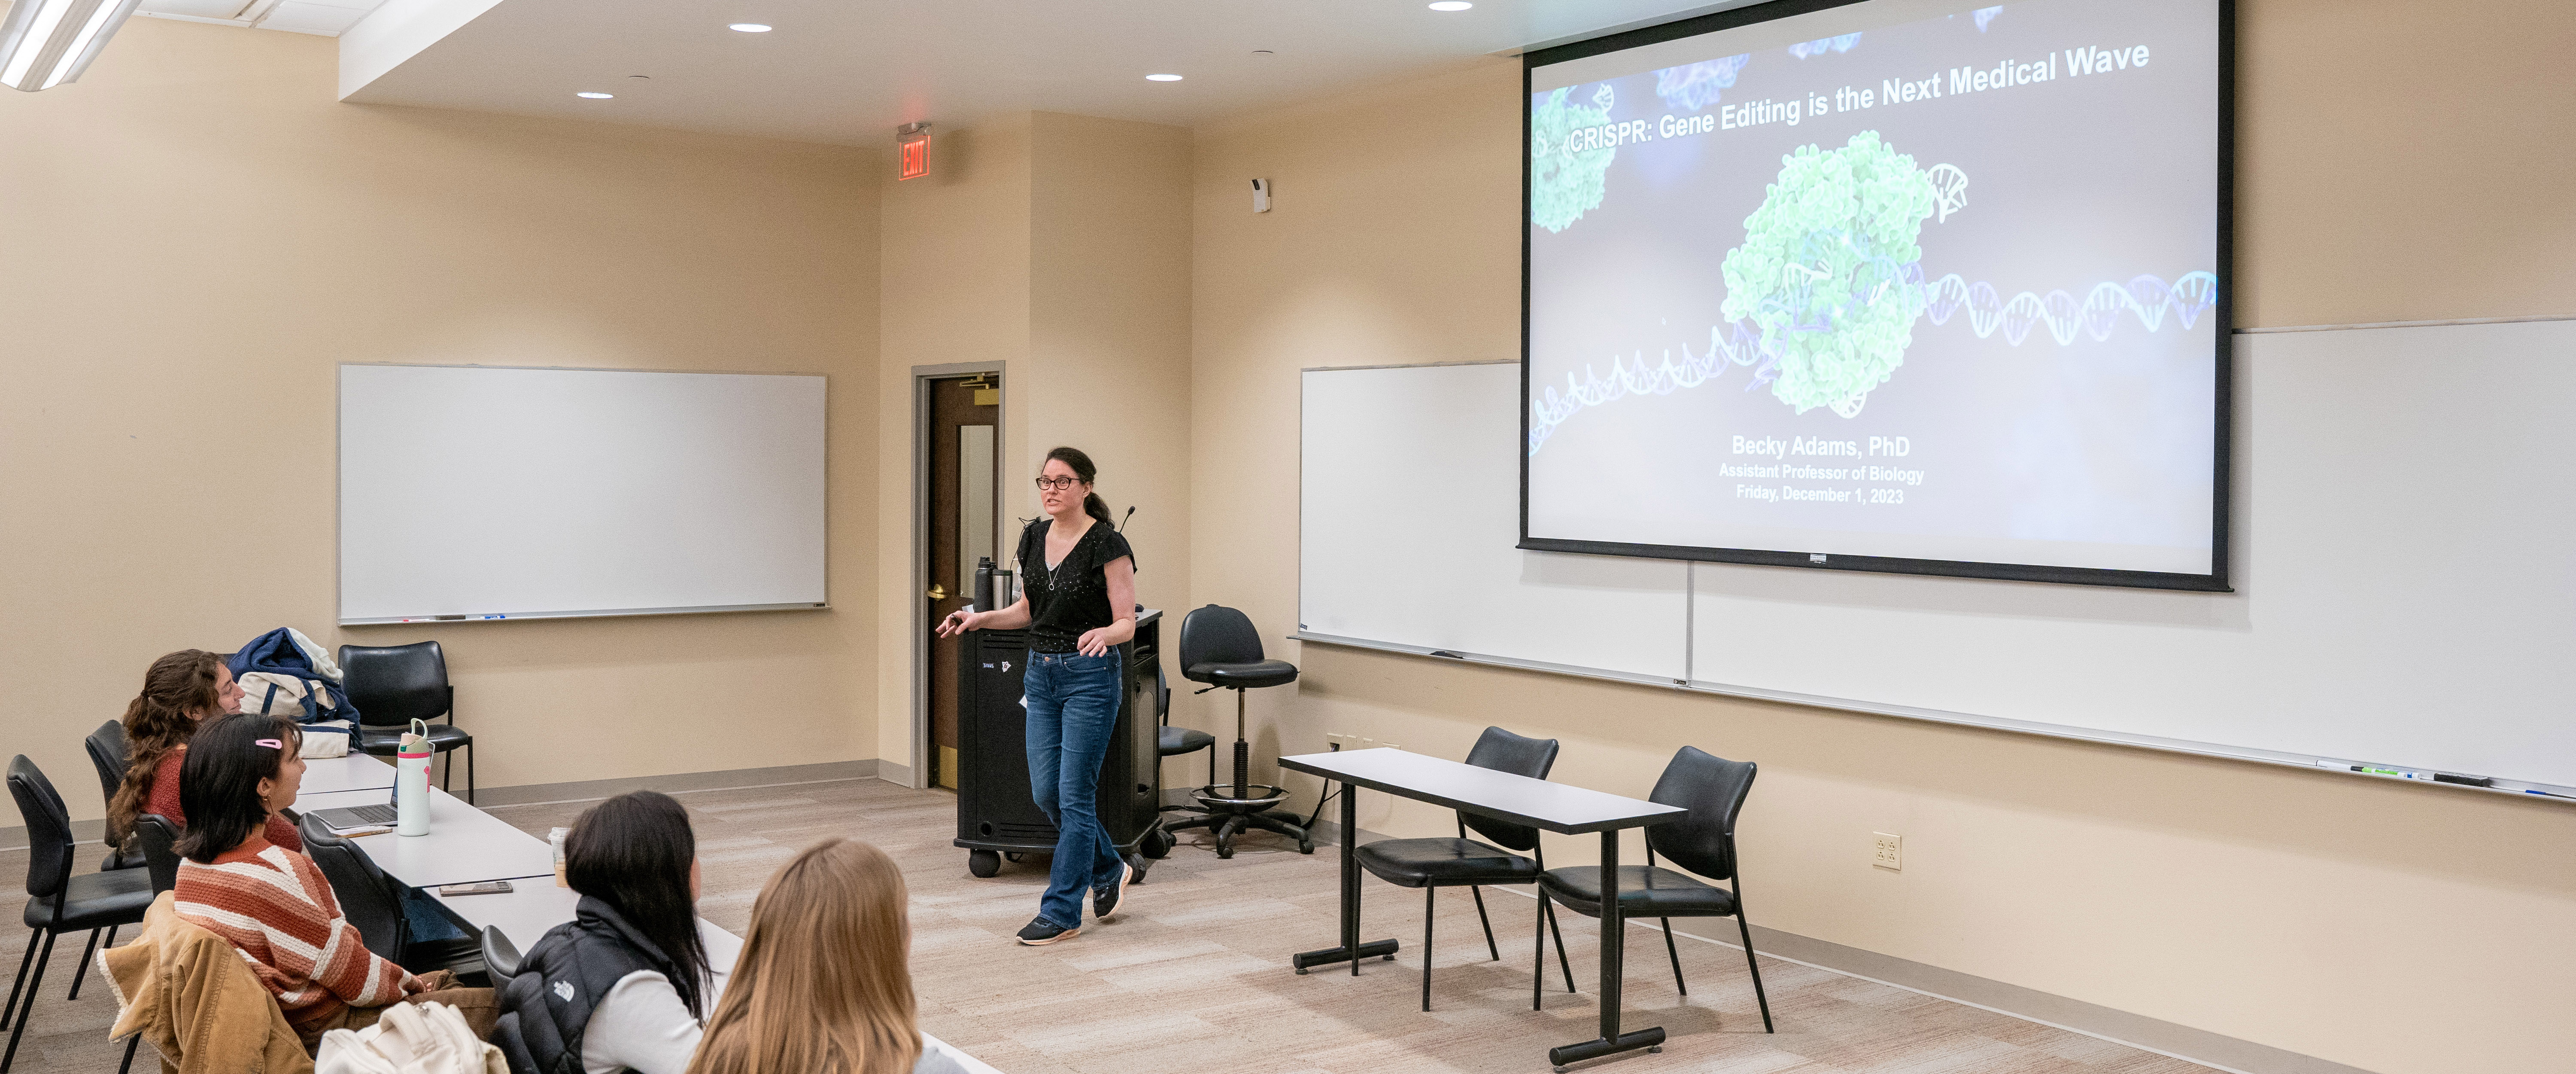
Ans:
{"type": "Polygon", "coordinates": [[[1126,675],[1118,644],[1136,636],[1136,556],[1110,507],[1092,495],[1097,469],[1074,448],[1046,453],[1038,502],[1046,518],[1020,531],[1020,600],[956,610],[940,636],[1028,628],[1028,786],[1056,822],[1056,865],[1038,919],[1020,943],[1041,948],[1082,932],[1082,889],[1110,919],[1133,876],[1100,827],[1100,762],[1110,755],[1126,675]]]}

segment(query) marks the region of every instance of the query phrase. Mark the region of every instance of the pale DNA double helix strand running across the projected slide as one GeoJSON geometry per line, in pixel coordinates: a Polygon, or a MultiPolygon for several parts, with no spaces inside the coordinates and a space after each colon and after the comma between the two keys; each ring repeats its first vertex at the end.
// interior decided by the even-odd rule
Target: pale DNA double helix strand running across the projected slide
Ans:
{"type": "MultiPolygon", "coordinates": [[[[2120,314],[2138,317],[2138,325],[2148,332],[2164,327],[2164,317],[2172,314],[2190,330],[2200,314],[2205,314],[2218,296],[2218,273],[2192,270],[2182,273],[2177,281],[2166,283],[2159,276],[2133,276],[2128,283],[2094,283],[2084,296],[2069,291],[2048,291],[2045,296],[2032,291],[2020,291],[2004,299],[1994,283],[1968,283],[1958,273],[1947,273],[1932,283],[1924,283],[1922,263],[1904,265],[1904,286],[1922,294],[1924,317],[1932,325],[1947,325],[1960,312],[1968,314],[1968,330],[1978,340],[2004,332],[2004,343],[2022,345],[2032,330],[2048,325],[2048,335],[2063,348],[2074,345],[2079,335],[2089,335],[2097,343],[2110,340],[2120,327],[2120,314]]],[[[1708,330],[1708,350],[1690,353],[1682,345],[1682,358],[1674,361],[1672,350],[1664,350],[1659,363],[1646,363],[1643,353],[1631,358],[1610,358],[1610,376],[1600,376],[1592,366],[1584,366],[1584,376],[1577,381],[1566,373],[1564,391],[1553,384],[1530,389],[1530,453],[1535,456],[1548,435],[1556,433],[1569,417],[1602,407],[1631,394],[1674,394],[1680,389],[1695,389],[1700,384],[1716,381],[1728,366],[1754,366],[1744,389],[1759,389],[1770,384],[1770,366],[1777,363],[1777,345],[1765,343],[1762,332],[1752,330],[1747,322],[1713,325],[1708,330]]],[[[1852,397],[1832,404],[1842,417],[1857,417],[1868,397],[1852,397]]]]}

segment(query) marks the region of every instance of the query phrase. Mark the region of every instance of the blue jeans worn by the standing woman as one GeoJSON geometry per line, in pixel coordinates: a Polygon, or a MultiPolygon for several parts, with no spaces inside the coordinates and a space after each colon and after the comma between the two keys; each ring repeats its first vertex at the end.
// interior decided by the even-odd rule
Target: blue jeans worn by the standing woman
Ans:
{"type": "Polygon", "coordinates": [[[1056,927],[1082,927],[1082,891],[1118,883],[1126,858],[1100,827],[1100,762],[1118,729],[1126,693],[1118,649],[1030,652],[1020,693],[1028,698],[1028,791],[1056,822],[1056,865],[1046,873],[1038,917],[1056,927]]]}

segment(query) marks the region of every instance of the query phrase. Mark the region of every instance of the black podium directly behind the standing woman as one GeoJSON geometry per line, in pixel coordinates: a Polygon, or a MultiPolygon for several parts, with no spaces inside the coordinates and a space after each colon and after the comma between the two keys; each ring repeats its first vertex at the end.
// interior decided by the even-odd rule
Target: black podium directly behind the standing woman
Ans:
{"type": "MultiPolygon", "coordinates": [[[[958,837],[966,871],[994,876],[1002,855],[1056,850],[1056,824],[1028,791],[1028,708],[1020,672],[1028,631],[969,631],[958,659],[958,837]]],[[[1118,726],[1100,762],[1100,827],[1144,878],[1151,865],[1136,845],[1157,832],[1162,791],[1154,749],[1154,664],[1162,659],[1162,613],[1136,613],[1136,639],[1121,644],[1126,690],[1118,726]]]]}

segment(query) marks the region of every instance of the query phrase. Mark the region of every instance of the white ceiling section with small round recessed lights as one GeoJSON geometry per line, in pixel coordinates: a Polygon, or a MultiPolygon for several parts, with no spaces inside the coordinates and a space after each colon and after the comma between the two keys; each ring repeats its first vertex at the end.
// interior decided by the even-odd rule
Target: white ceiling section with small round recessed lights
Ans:
{"type": "MultiPolygon", "coordinates": [[[[1744,3],[1479,0],[1435,13],[1425,0],[500,0],[345,98],[837,144],[1012,111],[1198,126],[1744,3]],[[1154,72],[1185,80],[1146,82],[1154,72]]],[[[379,31],[343,39],[343,64],[350,41],[389,36],[379,31]]]]}

